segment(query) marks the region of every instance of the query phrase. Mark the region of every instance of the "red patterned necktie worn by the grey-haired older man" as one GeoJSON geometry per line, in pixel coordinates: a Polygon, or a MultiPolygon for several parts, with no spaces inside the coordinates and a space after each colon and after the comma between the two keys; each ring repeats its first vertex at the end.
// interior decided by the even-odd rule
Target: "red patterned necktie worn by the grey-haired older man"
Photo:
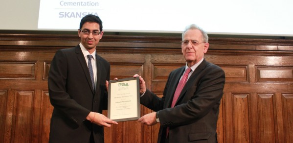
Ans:
{"type": "MultiPolygon", "coordinates": [[[[175,106],[175,103],[187,81],[187,78],[188,78],[188,74],[189,72],[191,71],[190,68],[186,69],[186,71],[184,72],[181,80],[179,81],[178,85],[177,85],[177,88],[176,88],[176,91],[174,93],[174,96],[173,96],[173,100],[172,100],[172,104],[171,104],[171,108],[173,108],[175,106]]],[[[167,131],[166,131],[166,138],[168,138],[168,134],[169,134],[169,127],[167,127],[167,131]]]]}

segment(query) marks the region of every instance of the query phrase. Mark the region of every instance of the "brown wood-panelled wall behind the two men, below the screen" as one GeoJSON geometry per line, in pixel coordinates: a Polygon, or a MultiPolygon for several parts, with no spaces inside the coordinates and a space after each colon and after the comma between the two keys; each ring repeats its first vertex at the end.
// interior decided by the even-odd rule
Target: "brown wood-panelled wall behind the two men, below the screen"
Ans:
{"type": "MultiPolygon", "coordinates": [[[[77,35],[0,34],[0,143],[47,143],[53,107],[47,78],[57,49],[77,35]]],[[[219,143],[293,142],[293,40],[210,38],[205,59],[226,75],[219,143]]],[[[185,61],[180,37],[104,35],[97,52],[111,79],[141,75],[162,96],[168,75],[185,61]]],[[[151,113],[141,105],[141,116],[151,113]]],[[[103,111],[107,115],[107,111],[103,111]]],[[[159,124],[136,120],[105,128],[106,143],[157,143],[159,124]]]]}

